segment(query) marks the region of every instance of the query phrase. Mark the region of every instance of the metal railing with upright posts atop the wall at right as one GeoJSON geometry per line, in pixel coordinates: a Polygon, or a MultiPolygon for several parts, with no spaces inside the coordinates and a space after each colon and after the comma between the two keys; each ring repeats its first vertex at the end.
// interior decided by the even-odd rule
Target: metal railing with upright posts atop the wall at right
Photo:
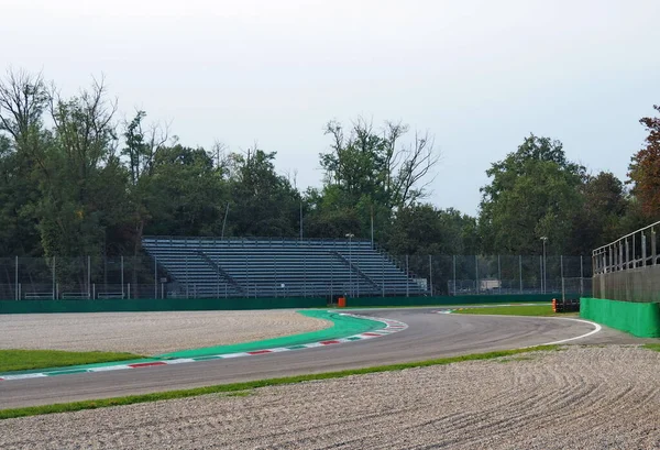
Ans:
{"type": "Polygon", "coordinates": [[[592,252],[594,275],[659,263],[657,231],[660,222],[641,228],[592,252]]]}

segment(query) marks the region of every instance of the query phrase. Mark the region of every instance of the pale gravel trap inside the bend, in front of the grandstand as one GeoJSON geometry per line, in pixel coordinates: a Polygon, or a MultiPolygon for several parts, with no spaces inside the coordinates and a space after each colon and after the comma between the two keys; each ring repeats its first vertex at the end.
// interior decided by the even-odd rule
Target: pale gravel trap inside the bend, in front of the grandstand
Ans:
{"type": "Polygon", "coordinates": [[[152,355],[278,338],[331,325],[294,310],[0,315],[0,349],[152,355]]]}

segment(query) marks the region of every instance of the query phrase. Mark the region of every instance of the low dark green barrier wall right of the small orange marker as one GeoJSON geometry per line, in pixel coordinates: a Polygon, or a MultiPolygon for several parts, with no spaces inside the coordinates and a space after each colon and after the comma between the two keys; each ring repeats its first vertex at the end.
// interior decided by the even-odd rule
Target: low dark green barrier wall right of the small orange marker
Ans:
{"type": "Polygon", "coordinates": [[[557,294],[532,295],[457,295],[442,297],[360,297],[348,298],[348,307],[361,306],[436,306],[436,305],[475,305],[491,303],[551,301],[557,294]]]}

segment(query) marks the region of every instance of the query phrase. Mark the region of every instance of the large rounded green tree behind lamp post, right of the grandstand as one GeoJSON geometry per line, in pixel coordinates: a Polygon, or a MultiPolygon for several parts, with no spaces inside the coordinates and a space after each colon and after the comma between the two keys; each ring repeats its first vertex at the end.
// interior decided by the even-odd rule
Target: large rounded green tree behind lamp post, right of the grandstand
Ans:
{"type": "Polygon", "coordinates": [[[568,239],[586,175],[566,160],[561,142],[531,134],[486,174],[492,182],[481,189],[479,218],[485,252],[538,254],[541,237],[550,252],[575,252],[568,239]]]}

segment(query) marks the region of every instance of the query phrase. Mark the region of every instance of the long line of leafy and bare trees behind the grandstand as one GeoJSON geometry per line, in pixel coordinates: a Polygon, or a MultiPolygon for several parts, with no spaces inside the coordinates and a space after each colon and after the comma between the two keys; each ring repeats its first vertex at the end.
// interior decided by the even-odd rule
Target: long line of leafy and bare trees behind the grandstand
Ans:
{"type": "MultiPolygon", "coordinates": [[[[658,109],[658,107],[656,107],[658,109]]],[[[133,255],[155,235],[370,238],[394,254],[587,254],[660,211],[660,123],[631,189],[530,135],[487,171],[479,217],[428,202],[439,153],[400,122],[330,121],[321,188],[297,189],[276,154],[190,147],[144,111],[118,118],[102,81],[63,97],[41,75],[0,83],[0,255],[133,255]]],[[[451,193],[450,193],[451,194],[451,193]]]]}

